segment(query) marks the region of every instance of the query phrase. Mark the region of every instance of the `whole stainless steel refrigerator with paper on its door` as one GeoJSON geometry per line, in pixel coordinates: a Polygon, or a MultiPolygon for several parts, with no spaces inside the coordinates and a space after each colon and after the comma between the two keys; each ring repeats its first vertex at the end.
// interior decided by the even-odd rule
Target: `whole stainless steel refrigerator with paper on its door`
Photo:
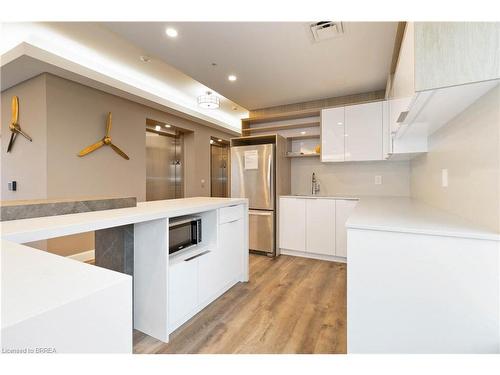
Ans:
{"type": "Polygon", "coordinates": [[[231,197],[248,198],[250,250],[275,252],[275,145],[231,147],[231,197]]]}

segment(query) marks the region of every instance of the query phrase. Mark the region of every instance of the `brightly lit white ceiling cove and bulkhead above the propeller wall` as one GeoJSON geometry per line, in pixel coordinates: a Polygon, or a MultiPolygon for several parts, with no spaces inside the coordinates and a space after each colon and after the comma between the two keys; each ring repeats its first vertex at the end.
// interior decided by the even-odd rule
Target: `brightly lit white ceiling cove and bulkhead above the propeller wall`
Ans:
{"type": "Polygon", "coordinates": [[[220,93],[220,108],[203,109],[197,97],[209,88],[97,23],[2,24],[2,91],[42,72],[168,110],[208,126],[239,132],[248,111],[220,93]],[[236,108],[236,109],[234,109],[236,108]]]}

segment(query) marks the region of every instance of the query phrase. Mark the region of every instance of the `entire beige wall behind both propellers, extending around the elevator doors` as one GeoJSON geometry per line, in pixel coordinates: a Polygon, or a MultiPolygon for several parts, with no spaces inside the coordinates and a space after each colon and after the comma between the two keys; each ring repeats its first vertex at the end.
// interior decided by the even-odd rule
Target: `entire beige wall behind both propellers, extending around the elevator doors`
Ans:
{"type": "MultiPolygon", "coordinates": [[[[146,118],[192,131],[186,135],[184,144],[185,196],[209,196],[210,137],[232,137],[50,74],[2,92],[2,134],[8,132],[12,95],[20,98],[21,126],[34,141],[27,145],[18,139],[17,152],[5,157],[8,138],[2,136],[2,182],[16,179],[20,188],[17,193],[9,194],[4,192],[6,184],[2,183],[5,200],[92,196],[134,196],[139,201],[145,200],[146,118]],[[113,113],[113,142],[130,160],[124,160],[109,147],[78,157],[82,148],[104,136],[109,111],[113,113]]],[[[48,241],[49,250],[61,255],[86,251],[93,246],[92,234],[48,241]]]]}

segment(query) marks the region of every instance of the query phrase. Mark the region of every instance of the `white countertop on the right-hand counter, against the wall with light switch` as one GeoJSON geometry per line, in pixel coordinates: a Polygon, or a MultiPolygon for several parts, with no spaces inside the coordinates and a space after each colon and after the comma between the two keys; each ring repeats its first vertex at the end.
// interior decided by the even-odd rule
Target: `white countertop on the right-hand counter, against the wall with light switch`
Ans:
{"type": "Polygon", "coordinates": [[[500,241],[500,234],[405,197],[362,197],[347,228],[500,241]]]}

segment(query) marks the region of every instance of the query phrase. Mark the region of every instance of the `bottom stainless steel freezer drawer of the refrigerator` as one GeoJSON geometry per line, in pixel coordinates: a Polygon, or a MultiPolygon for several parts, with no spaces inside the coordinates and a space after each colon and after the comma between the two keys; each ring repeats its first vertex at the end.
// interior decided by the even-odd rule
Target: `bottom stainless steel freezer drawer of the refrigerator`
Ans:
{"type": "Polygon", "coordinates": [[[248,212],[250,250],[274,253],[274,211],[248,212]]]}

